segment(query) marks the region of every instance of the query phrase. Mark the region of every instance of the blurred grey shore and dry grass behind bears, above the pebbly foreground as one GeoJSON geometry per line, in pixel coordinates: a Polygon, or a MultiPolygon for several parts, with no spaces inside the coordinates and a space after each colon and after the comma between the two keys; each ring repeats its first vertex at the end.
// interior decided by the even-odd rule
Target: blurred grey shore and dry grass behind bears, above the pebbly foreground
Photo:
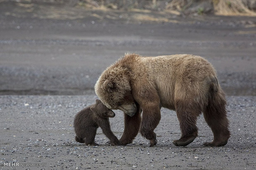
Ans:
{"type": "Polygon", "coordinates": [[[126,52],[200,55],[256,95],[256,0],[0,0],[0,94],[95,94],[126,52]]]}

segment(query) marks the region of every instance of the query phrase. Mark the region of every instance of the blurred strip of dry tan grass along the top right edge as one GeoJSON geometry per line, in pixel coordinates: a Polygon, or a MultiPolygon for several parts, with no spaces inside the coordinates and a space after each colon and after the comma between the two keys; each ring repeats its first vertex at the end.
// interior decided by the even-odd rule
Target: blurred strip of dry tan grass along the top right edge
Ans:
{"type": "Polygon", "coordinates": [[[174,14],[256,16],[256,0],[80,0],[88,9],[165,11],[174,14]]]}

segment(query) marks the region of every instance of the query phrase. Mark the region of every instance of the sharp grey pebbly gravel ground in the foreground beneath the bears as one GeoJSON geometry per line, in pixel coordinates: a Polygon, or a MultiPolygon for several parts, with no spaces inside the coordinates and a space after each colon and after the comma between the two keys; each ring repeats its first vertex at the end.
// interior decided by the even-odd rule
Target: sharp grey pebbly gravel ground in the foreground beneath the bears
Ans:
{"type": "MultiPolygon", "coordinates": [[[[224,147],[202,146],[213,139],[202,116],[197,123],[199,136],[194,142],[187,147],[175,147],[172,141],[180,137],[178,119],[175,112],[164,108],[155,130],[155,147],[149,147],[149,141],[140,135],[130,145],[107,146],[108,139],[101,129],[95,137],[100,146],[85,146],[74,140],[73,118],[95,99],[95,95],[0,96],[0,168],[256,169],[256,96],[228,96],[232,136],[224,147]],[[20,166],[7,167],[5,163],[20,166]]],[[[116,117],[110,119],[111,129],[120,138],[123,113],[115,112],[116,117]]]]}

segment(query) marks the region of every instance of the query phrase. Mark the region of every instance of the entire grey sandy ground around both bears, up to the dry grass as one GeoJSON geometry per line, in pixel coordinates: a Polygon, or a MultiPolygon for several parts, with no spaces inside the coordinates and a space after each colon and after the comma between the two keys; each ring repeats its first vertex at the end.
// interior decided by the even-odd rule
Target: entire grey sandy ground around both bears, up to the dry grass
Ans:
{"type": "MultiPolygon", "coordinates": [[[[0,0],[0,169],[256,169],[255,17],[30,2],[0,0]],[[187,147],[175,147],[178,119],[166,109],[155,147],[140,135],[133,144],[107,146],[100,129],[95,138],[100,146],[75,142],[74,115],[95,102],[98,76],[126,52],[188,53],[209,60],[228,94],[228,144],[203,147],[213,135],[200,117],[199,136],[187,147]]],[[[120,138],[123,113],[115,113],[111,128],[120,138]]]]}

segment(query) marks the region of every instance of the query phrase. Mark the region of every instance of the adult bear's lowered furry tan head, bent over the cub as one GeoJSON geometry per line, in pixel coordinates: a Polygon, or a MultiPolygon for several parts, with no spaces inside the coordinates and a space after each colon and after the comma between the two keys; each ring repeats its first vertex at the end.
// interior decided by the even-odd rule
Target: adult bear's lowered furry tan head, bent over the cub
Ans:
{"type": "Polygon", "coordinates": [[[103,71],[95,84],[95,93],[109,109],[122,110],[130,117],[135,115],[137,108],[126,67],[114,64],[103,71]]]}

